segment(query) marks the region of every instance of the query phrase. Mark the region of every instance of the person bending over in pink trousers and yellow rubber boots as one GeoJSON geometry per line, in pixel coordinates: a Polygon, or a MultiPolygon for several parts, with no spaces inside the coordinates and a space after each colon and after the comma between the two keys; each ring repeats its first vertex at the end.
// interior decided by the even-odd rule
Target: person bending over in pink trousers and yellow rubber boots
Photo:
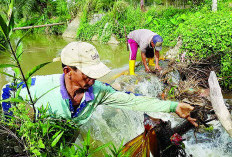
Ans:
{"type": "Polygon", "coordinates": [[[138,47],[141,50],[142,62],[145,67],[146,72],[151,72],[146,58],[148,58],[148,64],[150,66],[155,66],[155,69],[161,70],[159,66],[159,51],[162,49],[163,39],[158,34],[148,30],[148,29],[138,29],[130,32],[127,36],[128,45],[130,49],[129,58],[129,71],[130,75],[135,75],[135,61],[137,56],[138,47]],[[154,54],[155,49],[155,54],[154,54]],[[154,56],[155,62],[154,64],[154,56]]]}

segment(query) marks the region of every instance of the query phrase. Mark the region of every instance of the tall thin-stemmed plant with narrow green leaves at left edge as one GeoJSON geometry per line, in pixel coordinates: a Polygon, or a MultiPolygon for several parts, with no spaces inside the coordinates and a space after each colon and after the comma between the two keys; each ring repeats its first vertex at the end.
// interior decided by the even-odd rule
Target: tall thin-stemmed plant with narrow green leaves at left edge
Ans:
{"type": "MultiPolygon", "coordinates": [[[[13,28],[14,28],[14,12],[13,12],[13,4],[14,4],[14,0],[11,0],[11,3],[9,5],[9,11],[8,11],[8,20],[4,20],[3,17],[0,15],[0,30],[5,38],[5,41],[7,42],[9,49],[7,49],[5,46],[3,46],[2,44],[0,44],[1,48],[5,50],[5,53],[7,55],[10,55],[11,59],[13,60],[13,64],[9,63],[9,64],[0,64],[0,68],[13,68],[14,70],[14,75],[10,75],[8,73],[5,72],[1,72],[4,75],[7,75],[8,77],[12,77],[13,78],[13,83],[10,85],[10,89],[13,92],[12,96],[1,100],[0,102],[11,102],[13,105],[16,105],[17,103],[27,103],[30,106],[32,106],[33,111],[34,111],[34,116],[33,116],[33,121],[36,121],[36,110],[35,110],[35,100],[32,99],[32,95],[30,93],[30,84],[31,84],[31,76],[38,71],[40,68],[44,67],[45,65],[47,65],[50,62],[46,62],[46,63],[42,63],[34,68],[32,68],[30,71],[27,72],[27,74],[25,75],[20,61],[21,61],[21,56],[23,54],[23,49],[22,49],[22,44],[21,41],[23,39],[23,37],[27,34],[25,34],[22,38],[20,38],[18,40],[18,42],[16,43],[16,46],[13,47],[10,36],[12,34],[13,28]],[[23,82],[21,84],[18,84],[19,82],[23,82]],[[19,96],[20,90],[22,89],[22,86],[25,85],[28,95],[29,95],[29,102],[25,102],[24,100],[22,100],[19,96]]],[[[29,31],[28,31],[29,32],[29,31]]]]}

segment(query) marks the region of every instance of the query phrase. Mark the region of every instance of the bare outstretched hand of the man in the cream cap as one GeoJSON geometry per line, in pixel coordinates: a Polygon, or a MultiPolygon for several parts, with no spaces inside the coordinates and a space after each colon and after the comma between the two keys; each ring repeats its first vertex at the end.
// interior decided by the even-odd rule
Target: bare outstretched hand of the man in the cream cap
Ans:
{"type": "Polygon", "coordinates": [[[187,119],[190,123],[192,123],[195,127],[198,126],[196,123],[196,119],[190,117],[190,112],[194,109],[194,107],[190,106],[186,103],[179,103],[176,107],[176,114],[181,117],[187,119]]]}

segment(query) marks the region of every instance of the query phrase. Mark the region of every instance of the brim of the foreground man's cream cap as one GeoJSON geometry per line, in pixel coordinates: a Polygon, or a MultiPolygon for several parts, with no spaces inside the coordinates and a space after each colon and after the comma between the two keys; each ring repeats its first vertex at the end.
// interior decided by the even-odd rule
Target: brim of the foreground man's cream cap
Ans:
{"type": "Polygon", "coordinates": [[[111,70],[102,62],[97,65],[87,66],[87,67],[77,67],[82,73],[90,78],[98,79],[108,74],[111,70]]]}

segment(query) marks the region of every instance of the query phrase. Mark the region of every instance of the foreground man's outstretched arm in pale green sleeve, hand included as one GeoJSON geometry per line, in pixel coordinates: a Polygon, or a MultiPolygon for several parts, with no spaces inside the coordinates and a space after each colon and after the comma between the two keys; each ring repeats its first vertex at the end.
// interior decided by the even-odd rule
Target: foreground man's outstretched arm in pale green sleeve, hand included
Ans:
{"type": "Polygon", "coordinates": [[[135,96],[132,93],[127,94],[117,91],[106,94],[101,104],[144,112],[175,112],[179,117],[185,118],[194,126],[197,126],[196,119],[190,117],[190,112],[194,107],[185,103],[163,101],[157,98],[135,96]]]}

